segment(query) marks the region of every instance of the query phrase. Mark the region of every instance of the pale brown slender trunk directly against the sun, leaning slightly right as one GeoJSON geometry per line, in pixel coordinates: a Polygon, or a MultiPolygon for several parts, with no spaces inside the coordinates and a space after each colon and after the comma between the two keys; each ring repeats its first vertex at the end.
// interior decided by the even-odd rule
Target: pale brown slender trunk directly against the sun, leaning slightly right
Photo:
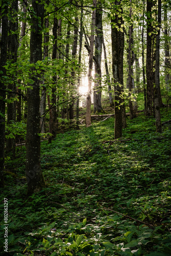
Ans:
{"type": "MultiPolygon", "coordinates": [[[[96,0],[93,0],[93,7],[96,7],[96,0]]],[[[91,24],[91,37],[90,37],[90,54],[89,54],[89,85],[87,94],[87,112],[86,112],[86,127],[91,126],[91,94],[92,94],[92,69],[93,69],[93,50],[94,50],[94,31],[95,31],[95,18],[96,10],[92,12],[92,24],[91,24]]]]}

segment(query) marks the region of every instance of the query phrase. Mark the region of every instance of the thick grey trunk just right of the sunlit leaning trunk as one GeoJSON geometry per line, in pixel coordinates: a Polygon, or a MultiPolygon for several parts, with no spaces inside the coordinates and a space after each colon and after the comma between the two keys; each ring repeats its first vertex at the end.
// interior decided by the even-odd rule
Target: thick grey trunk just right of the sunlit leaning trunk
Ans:
{"type": "Polygon", "coordinates": [[[97,2],[95,19],[95,86],[94,86],[94,113],[102,112],[101,91],[96,89],[101,86],[101,55],[102,55],[102,11],[101,4],[97,2]]]}

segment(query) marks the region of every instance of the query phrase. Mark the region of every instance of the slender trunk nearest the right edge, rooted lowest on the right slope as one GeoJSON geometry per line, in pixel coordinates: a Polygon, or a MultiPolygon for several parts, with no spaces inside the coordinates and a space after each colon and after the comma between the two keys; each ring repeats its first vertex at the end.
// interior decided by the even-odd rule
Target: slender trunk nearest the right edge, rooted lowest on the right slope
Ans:
{"type": "Polygon", "coordinates": [[[158,34],[156,36],[156,70],[155,70],[155,116],[156,116],[156,132],[162,133],[161,116],[160,116],[160,28],[161,28],[161,0],[158,0],[158,34]]]}

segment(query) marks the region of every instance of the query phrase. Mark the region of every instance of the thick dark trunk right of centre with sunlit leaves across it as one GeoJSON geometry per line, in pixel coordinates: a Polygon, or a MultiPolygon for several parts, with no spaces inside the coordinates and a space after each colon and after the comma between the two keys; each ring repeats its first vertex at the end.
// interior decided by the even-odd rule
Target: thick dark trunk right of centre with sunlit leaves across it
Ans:
{"type": "MultiPolygon", "coordinates": [[[[114,2],[116,8],[120,6],[121,1],[114,2]]],[[[121,9],[121,7],[119,8],[121,9]]],[[[122,13],[122,9],[121,9],[122,13]]],[[[115,27],[117,25],[121,28],[123,24],[122,17],[115,14],[115,19],[111,19],[112,22],[112,70],[114,78],[114,90],[115,90],[115,139],[122,137],[122,115],[124,111],[121,108],[121,95],[123,92],[123,49],[124,49],[124,33],[118,31],[115,27]]]]}

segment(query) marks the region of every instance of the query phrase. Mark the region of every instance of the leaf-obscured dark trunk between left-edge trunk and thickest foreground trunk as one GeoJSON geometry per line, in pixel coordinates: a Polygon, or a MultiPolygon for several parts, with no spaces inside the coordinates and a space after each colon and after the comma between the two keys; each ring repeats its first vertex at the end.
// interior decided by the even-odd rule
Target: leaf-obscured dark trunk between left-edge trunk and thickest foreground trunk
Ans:
{"type": "MultiPolygon", "coordinates": [[[[11,5],[11,20],[9,20],[9,60],[14,63],[17,61],[17,51],[18,51],[18,1],[14,1],[11,5]]],[[[12,80],[13,76],[11,77],[12,80]]],[[[9,83],[8,90],[16,91],[16,84],[9,83]]],[[[10,93],[7,95],[8,100],[14,98],[16,95],[14,93],[10,93]]],[[[7,124],[10,124],[11,121],[15,122],[16,119],[16,101],[12,100],[11,103],[7,103],[7,124]]],[[[13,146],[13,157],[15,157],[15,139],[8,138],[6,142],[6,152],[10,152],[13,146]]]]}

